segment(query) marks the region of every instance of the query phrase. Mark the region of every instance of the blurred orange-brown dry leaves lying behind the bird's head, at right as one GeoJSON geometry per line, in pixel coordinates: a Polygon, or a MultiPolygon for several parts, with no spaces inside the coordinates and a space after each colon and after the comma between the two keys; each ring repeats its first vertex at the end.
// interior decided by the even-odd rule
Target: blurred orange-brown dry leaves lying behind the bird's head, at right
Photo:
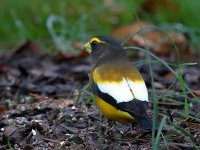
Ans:
{"type": "Polygon", "coordinates": [[[131,25],[119,27],[112,32],[112,37],[123,41],[125,38],[129,37],[131,34],[134,34],[145,28],[142,32],[134,35],[130,41],[128,41],[128,45],[137,45],[139,47],[149,47],[158,55],[166,55],[166,54],[176,54],[175,47],[173,42],[175,43],[177,49],[181,56],[192,56],[193,48],[187,42],[187,37],[182,33],[177,32],[166,32],[166,34],[151,28],[150,23],[141,21],[135,22],[131,25]],[[173,42],[172,42],[173,41],[173,42]]]}

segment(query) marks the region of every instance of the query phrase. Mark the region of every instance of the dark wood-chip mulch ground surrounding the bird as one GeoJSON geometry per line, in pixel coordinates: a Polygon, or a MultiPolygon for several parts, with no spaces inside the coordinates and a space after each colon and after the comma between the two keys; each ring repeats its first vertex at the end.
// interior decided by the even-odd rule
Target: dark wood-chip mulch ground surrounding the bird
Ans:
{"type": "MultiPolygon", "coordinates": [[[[138,37],[132,42],[144,46],[138,37]]],[[[161,53],[163,45],[149,44],[154,55],[175,64],[175,53],[166,45],[161,53]]],[[[181,60],[186,62],[199,61],[190,51],[181,54],[181,60]]],[[[157,122],[164,122],[156,127],[160,138],[155,138],[154,143],[159,142],[160,149],[200,148],[199,65],[186,65],[180,70],[172,67],[175,73],[181,72],[188,86],[184,93],[179,79],[154,57],[150,60],[152,85],[146,56],[135,51],[128,55],[149,89],[148,114],[153,118],[158,108],[157,122]]],[[[131,127],[114,123],[111,127],[100,115],[86,88],[90,71],[87,54],[47,55],[37,43],[27,41],[14,51],[1,52],[0,60],[0,149],[152,149],[152,133],[143,134],[137,124],[131,127]]]]}

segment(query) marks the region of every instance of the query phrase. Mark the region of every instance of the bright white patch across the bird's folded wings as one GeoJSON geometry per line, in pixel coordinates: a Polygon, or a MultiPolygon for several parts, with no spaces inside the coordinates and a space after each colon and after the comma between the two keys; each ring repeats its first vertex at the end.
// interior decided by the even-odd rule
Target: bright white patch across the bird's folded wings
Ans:
{"type": "Polygon", "coordinates": [[[121,83],[109,82],[97,86],[102,93],[109,94],[117,103],[129,102],[134,98],[148,102],[148,92],[144,82],[133,82],[123,78],[121,83]]]}

